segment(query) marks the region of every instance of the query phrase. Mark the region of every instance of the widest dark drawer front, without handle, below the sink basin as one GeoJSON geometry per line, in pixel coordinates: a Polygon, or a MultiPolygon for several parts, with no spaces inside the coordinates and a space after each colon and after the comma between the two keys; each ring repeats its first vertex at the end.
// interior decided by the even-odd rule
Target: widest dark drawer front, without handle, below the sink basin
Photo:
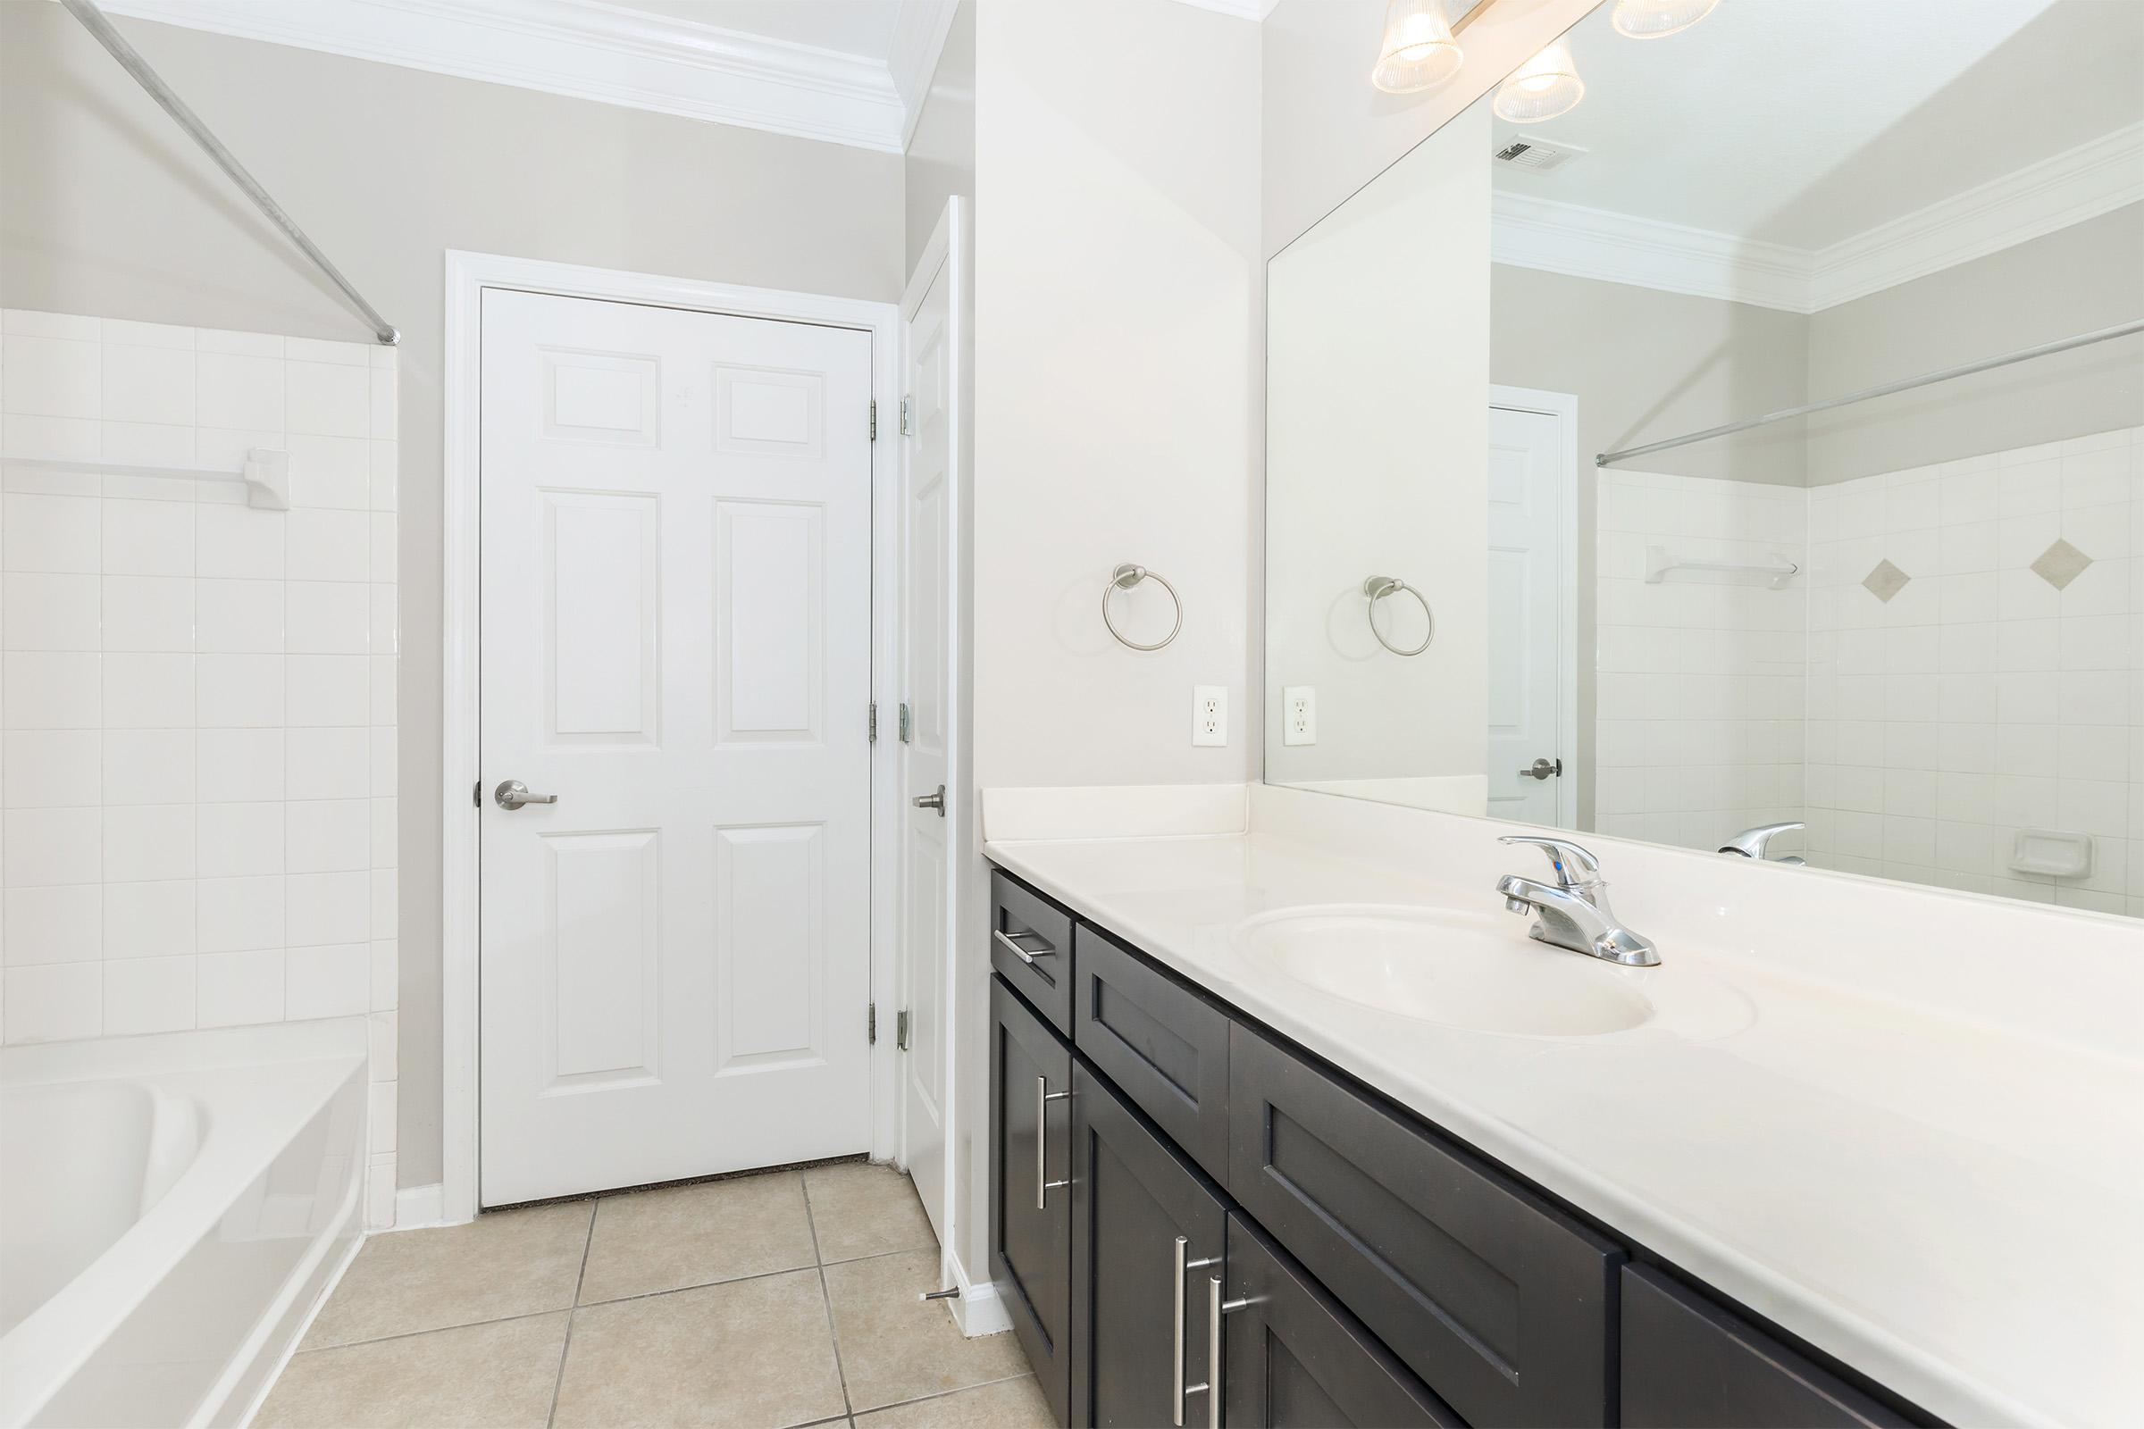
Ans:
{"type": "Polygon", "coordinates": [[[1241,1024],[1229,1191],[1466,1423],[1612,1423],[1625,1253],[1241,1024]]]}

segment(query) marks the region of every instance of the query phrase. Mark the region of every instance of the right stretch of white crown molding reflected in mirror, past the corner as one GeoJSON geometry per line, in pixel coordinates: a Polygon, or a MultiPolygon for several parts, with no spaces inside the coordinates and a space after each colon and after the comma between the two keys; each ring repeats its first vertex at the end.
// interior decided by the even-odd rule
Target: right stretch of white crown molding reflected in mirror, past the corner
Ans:
{"type": "Polygon", "coordinates": [[[1852,302],[2140,199],[2144,124],[2129,124],[1820,249],[1810,309],[1852,302]]]}

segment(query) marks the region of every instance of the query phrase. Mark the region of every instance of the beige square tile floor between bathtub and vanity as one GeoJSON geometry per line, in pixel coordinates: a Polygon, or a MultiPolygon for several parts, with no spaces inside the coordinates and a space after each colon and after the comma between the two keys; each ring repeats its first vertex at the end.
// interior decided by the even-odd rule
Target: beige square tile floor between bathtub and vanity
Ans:
{"type": "Polygon", "coordinates": [[[375,1236],[255,1429],[1046,1429],[907,1176],[843,1163],[375,1236]]]}

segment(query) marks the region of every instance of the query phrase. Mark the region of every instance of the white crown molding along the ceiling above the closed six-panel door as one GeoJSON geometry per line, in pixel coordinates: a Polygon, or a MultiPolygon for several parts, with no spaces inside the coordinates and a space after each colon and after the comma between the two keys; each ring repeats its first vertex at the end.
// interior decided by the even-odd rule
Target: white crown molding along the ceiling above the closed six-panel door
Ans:
{"type": "Polygon", "coordinates": [[[885,64],[600,0],[105,0],[105,11],[900,152],[905,107],[885,64]]]}

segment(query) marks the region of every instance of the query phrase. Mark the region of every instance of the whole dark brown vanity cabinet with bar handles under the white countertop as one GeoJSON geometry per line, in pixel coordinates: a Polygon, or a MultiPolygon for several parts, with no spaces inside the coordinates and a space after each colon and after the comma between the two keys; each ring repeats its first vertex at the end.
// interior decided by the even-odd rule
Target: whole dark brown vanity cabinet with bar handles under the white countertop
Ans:
{"type": "Polygon", "coordinates": [[[991,1275],[1059,1423],[1934,1423],[1006,874],[991,943],[991,1275]]]}

